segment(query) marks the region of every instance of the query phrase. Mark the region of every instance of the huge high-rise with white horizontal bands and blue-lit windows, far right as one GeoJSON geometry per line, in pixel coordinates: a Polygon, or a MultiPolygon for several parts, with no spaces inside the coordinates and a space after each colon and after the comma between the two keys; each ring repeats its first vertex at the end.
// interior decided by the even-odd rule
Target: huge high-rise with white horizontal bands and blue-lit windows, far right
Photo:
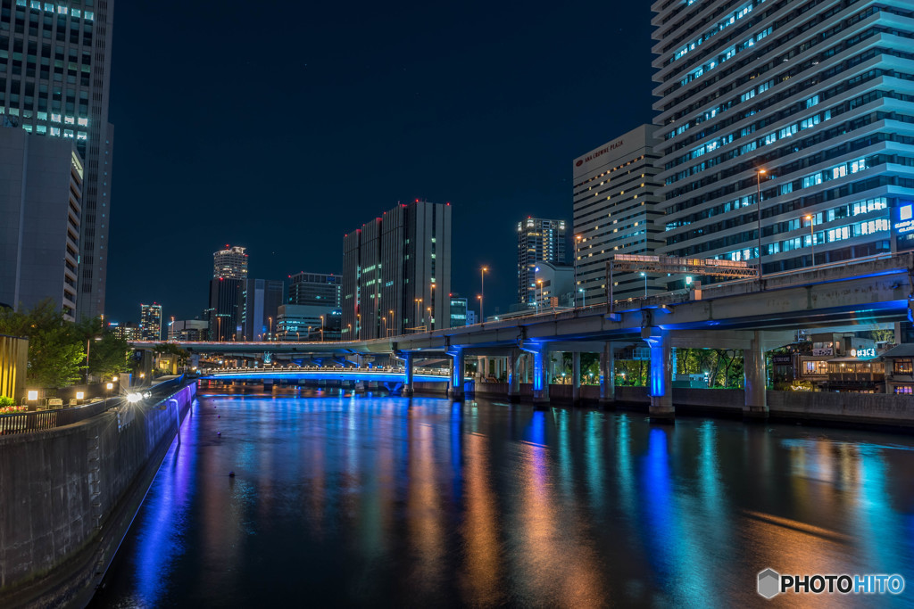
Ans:
{"type": "Polygon", "coordinates": [[[893,214],[914,194],[912,8],[655,2],[664,252],[764,274],[897,247],[893,214]]]}

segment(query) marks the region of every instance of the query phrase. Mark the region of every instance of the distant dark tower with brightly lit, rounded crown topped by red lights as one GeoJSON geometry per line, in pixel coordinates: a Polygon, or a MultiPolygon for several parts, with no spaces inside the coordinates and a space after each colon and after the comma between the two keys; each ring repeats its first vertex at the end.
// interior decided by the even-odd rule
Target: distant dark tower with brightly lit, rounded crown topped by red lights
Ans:
{"type": "Polygon", "coordinates": [[[244,247],[226,246],[213,253],[213,278],[209,280],[209,340],[244,338],[244,291],[248,280],[248,255],[244,247]]]}

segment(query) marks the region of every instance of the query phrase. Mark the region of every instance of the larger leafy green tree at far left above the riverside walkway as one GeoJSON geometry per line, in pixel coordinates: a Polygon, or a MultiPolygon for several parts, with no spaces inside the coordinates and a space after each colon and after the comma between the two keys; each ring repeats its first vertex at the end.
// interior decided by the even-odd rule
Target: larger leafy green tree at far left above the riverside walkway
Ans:
{"type": "Polygon", "coordinates": [[[0,310],[0,332],[28,339],[28,383],[56,389],[80,380],[86,358],[80,334],[51,299],[27,312],[0,310]]]}

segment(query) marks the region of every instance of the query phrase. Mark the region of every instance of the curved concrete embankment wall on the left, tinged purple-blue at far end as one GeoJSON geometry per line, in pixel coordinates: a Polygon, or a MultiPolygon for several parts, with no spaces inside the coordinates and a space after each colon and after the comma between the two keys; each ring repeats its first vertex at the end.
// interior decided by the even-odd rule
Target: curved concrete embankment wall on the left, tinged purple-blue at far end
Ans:
{"type": "Polygon", "coordinates": [[[197,394],[0,437],[0,606],[81,606],[197,394]]]}

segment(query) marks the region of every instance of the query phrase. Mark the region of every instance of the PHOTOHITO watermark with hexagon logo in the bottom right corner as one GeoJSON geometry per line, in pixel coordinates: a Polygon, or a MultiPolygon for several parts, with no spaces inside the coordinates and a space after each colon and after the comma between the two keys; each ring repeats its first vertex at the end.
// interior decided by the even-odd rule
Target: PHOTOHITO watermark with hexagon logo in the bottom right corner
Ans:
{"type": "Polygon", "coordinates": [[[781,575],[773,569],[759,573],[759,593],[774,598],[794,594],[900,594],[905,589],[901,575],[781,575]]]}

